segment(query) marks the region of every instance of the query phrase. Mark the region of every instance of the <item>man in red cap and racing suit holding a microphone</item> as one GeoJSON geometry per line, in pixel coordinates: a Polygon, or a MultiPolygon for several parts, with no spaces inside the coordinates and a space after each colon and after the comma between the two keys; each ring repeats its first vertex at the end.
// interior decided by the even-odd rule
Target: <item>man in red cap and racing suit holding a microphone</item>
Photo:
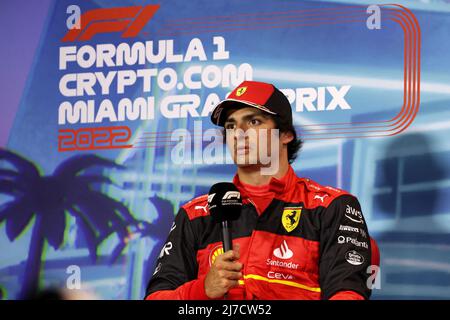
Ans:
{"type": "Polygon", "coordinates": [[[211,120],[225,128],[237,166],[233,250],[223,253],[208,195],[193,199],[175,218],[146,298],[368,299],[371,242],[358,200],[296,176],[290,163],[302,143],[283,93],[244,81],[211,120]],[[275,172],[263,174],[269,166],[275,172]]]}

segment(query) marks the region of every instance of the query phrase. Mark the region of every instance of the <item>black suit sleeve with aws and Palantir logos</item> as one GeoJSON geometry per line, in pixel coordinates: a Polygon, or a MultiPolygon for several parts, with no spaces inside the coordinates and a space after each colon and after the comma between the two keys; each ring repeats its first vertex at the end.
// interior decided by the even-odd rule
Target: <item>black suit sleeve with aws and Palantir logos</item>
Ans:
{"type": "Polygon", "coordinates": [[[334,199],[321,214],[320,287],[322,299],[353,291],[369,299],[370,238],[358,200],[351,195],[334,199]]]}

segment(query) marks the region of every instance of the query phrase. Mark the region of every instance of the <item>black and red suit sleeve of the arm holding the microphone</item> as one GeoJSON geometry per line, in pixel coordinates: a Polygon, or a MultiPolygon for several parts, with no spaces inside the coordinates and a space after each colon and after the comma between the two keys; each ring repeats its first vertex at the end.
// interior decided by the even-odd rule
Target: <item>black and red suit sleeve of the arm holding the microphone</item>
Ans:
{"type": "Polygon", "coordinates": [[[186,211],[181,208],[156,261],[145,299],[208,299],[204,277],[197,279],[196,254],[196,237],[186,211]]]}

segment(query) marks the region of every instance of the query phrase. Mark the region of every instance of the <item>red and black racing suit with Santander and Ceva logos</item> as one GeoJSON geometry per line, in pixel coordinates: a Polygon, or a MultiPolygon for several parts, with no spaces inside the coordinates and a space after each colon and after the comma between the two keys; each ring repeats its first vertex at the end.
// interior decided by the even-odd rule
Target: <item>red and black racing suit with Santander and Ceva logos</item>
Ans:
{"type": "MultiPolygon", "coordinates": [[[[368,299],[369,233],[358,200],[299,178],[292,167],[260,212],[236,175],[242,213],[232,224],[243,277],[227,299],[368,299]]],[[[204,279],[223,252],[208,195],[183,205],[149,281],[146,299],[208,299],[204,279]]]]}

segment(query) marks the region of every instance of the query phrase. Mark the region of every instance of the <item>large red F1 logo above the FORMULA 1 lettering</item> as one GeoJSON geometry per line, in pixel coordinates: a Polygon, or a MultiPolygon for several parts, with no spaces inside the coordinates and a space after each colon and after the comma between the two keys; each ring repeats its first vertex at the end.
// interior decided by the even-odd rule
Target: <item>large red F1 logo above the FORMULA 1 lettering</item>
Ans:
{"type": "Polygon", "coordinates": [[[67,31],[61,41],[86,41],[110,32],[122,32],[122,38],[136,37],[158,9],[159,4],[90,10],[81,15],[81,27],[67,31]]]}

